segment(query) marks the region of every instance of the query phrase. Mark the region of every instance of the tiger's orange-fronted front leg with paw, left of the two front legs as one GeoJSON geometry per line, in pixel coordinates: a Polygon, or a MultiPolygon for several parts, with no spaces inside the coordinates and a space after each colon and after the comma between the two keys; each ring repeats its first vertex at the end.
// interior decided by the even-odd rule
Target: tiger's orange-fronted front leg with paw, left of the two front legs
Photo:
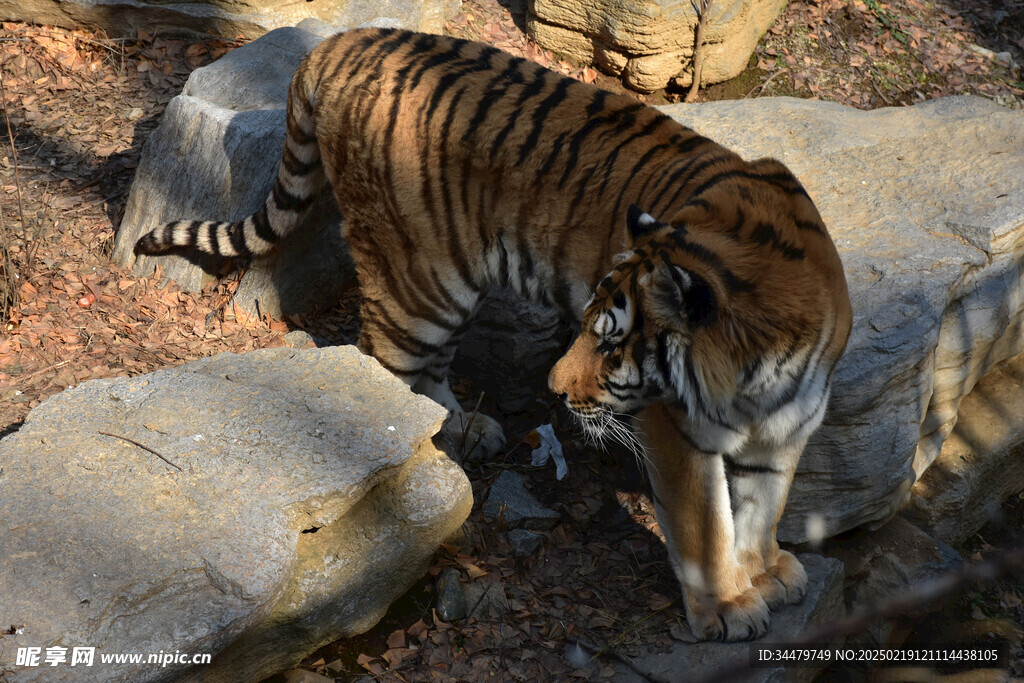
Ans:
{"type": "Polygon", "coordinates": [[[736,556],[722,456],[693,447],[660,403],[644,409],[636,425],[647,447],[657,520],[693,635],[727,641],[763,636],[768,605],[736,556]]]}

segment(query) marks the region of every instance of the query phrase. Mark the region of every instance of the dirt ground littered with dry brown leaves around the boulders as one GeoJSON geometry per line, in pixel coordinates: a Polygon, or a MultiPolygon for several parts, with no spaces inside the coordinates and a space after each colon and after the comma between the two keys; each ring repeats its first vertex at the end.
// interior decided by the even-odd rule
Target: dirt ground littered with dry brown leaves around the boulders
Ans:
{"type": "MultiPolygon", "coordinates": [[[[468,0],[447,31],[622,90],[614,79],[539,48],[522,28],[515,3],[468,0]]],[[[108,260],[146,135],[188,73],[238,44],[0,27],[0,435],[47,396],[89,379],[276,346],[297,328],[351,341],[354,294],[316,319],[244,322],[229,303],[238,270],[225,268],[189,294],[159,287],[159,273],[140,279],[108,260]]],[[[785,94],[871,109],[972,93],[1021,109],[1024,83],[1013,65],[1024,65],[1022,0],[795,0],[750,69],[701,98],[785,94]]],[[[677,101],[681,94],[642,99],[677,101]]],[[[633,461],[565,445],[569,474],[560,482],[551,469],[529,467],[522,442],[471,467],[477,505],[467,537],[434,567],[461,567],[467,581],[500,580],[509,614],[444,624],[432,609],[428,577],[377,628],[329,645],[305,669],[345,680],[609,678],[610,661],[685,639],[678,587],[633,461]],[[515,557],[505,530],[480,517],[480,502],[503,469],[525,473],[542,502],[562,515],[530,557],[515,557]],[[585,661],[566,657],[575,643],[585,661]]],[[[994,552],[1021,538],[1021,507],[1011,506],[1013,533],[979,536],[962,550],[994,552]]],[[[1022,598],[1024,586],[1008,582],[947,609],[958,610],[955,618],[1020,624],[1022,598]]],[[[1014,639],[1013,671],[1024,676],[1019,631],[1004,638],[1014,639]]]]}

